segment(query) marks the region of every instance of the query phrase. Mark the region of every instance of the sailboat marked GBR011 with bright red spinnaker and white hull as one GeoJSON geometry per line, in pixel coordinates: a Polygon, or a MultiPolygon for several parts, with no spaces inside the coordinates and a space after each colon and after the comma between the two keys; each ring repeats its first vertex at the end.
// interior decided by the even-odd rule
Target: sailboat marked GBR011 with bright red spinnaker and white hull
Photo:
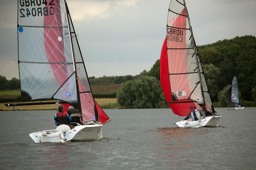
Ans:
{"type": "Polygon", "coordinates": [[[172,112],[187,116],[190,106],[212,113],[191,113],[191,119],[176,122],[179,127],[216,127],[222,117],[214,111],[204,71],[193,36],[187,6],[184,0],[171,0],[167,18],[167,36],[160,56],[160,80],[172,112]]]}

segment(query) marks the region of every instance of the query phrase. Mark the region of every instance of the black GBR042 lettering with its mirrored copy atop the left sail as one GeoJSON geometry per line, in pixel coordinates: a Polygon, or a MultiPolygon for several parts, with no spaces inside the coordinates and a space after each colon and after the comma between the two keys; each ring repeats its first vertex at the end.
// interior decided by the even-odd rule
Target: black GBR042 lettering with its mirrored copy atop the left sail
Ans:
{"type": "Polygon", "coordinates": [[[54,15],[54,0],[20,0],[20,17],[29,17],[29,16],[47,16],[47,15],[54,15]],[[45,7],[36,7],[45,5],[45,7]],[[35,7],[29,10],[25,7],[35,7]]]}

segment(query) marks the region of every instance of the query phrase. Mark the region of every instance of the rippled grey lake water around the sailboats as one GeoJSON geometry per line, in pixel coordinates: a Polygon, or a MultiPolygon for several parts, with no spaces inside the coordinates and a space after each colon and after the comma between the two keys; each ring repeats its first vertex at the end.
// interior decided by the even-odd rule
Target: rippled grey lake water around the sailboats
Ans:
{"type": "MultiPolygon", "coordinates": [[[[39,143],[54,123],[0,112],[0,169],[256,169],[256,107],[216,108],[223,127],[178,128],[171,109],[106,109],[94,142],[39,143]],[[120,138],[120,139],[118,139],[120,138]]],[[[55,111],[24,111],[53,121],[55,111]]]]}

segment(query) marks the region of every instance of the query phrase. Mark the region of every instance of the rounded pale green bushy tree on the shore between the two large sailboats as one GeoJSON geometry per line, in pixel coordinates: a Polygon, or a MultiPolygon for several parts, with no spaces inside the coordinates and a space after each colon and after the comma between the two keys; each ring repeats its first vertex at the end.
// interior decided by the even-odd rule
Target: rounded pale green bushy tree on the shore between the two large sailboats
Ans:
{"type": "Polygon", "coordinates": [[[160,102],[160,82],[149,76],[127,81],[117,91],[117,102],[124,107],[155,108],[160,102]]]}

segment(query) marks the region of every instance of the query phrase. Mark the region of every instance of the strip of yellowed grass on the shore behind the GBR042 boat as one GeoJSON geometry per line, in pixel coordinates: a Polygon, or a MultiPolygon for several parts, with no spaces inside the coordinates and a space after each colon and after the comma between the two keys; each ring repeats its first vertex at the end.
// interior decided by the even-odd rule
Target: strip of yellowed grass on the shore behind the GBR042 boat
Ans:
{"type": "MultiPolygon", "coordinates": [[[[102,108],[113,108],[111,105],[117,105],[116,98],[105,98],[105,99],[95,99],[97,103],[102,108]]],[[[58,104],[52,105],[32,105],[32,106],[15,106],[14,108],[17,110],[57,110],[58,104]]],[[[0,103],[0,110],[12,110],[4,105],[4,103],[0,103]]]]}

